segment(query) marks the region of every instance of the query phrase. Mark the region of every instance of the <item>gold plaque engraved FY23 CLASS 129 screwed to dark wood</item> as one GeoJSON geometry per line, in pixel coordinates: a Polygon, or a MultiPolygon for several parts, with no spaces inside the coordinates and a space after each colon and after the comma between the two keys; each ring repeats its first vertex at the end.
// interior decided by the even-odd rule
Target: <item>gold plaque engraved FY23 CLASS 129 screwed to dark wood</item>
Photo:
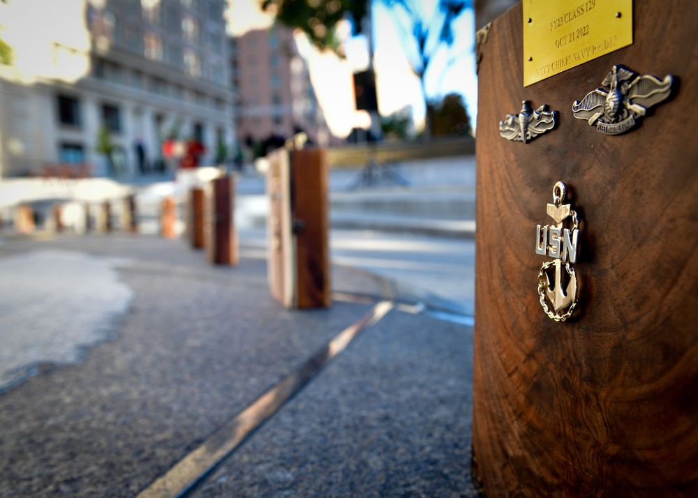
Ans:
{"type": "Polygon", "coordinates": [[[632,0],[523,0],[523,86],[632,44],[632,0]]]}

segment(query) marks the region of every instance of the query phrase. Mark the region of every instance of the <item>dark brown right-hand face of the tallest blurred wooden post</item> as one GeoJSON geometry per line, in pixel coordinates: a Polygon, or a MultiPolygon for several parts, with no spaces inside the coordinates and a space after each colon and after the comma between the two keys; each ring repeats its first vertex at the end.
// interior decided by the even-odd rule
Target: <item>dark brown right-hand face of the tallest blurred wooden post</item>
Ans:
{"type": "Polygon", "coordinates": [[[295,234],[298,308],[327,308],[329,285],[329,204],[327,151],[291,152],[291,211],[295,234]]]}

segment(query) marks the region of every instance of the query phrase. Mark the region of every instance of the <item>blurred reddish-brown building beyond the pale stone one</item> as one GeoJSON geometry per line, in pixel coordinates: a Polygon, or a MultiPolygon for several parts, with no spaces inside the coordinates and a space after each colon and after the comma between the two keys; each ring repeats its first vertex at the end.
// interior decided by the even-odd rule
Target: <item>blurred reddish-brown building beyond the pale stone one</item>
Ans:
{"type": "Polygon", "coordinates": [[[332,138],[292,31],[273,24],[231,40],[235,128],[241,144],[304,131],[313,144],[332,138]]]}

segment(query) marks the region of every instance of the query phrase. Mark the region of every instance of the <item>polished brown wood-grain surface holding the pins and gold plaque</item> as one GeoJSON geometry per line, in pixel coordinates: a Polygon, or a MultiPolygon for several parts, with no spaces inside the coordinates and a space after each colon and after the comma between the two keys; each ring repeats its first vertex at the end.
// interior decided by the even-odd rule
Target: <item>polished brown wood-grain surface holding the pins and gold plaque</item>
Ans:
{"type": "Polygon", "coordinates": [[[523,88],[521,3],[482,45],[473,449],[488,496],[698,496],[698,3],[635,1],[634,43],[523,88]],[[676,77],[624,135],[572,102],[614,64],[676,77]],[[533,142],[498,123],[560,112],[533,142]],[[549,319],[536,225],[563,181],[581,218],[579,306],[549,319]]]}

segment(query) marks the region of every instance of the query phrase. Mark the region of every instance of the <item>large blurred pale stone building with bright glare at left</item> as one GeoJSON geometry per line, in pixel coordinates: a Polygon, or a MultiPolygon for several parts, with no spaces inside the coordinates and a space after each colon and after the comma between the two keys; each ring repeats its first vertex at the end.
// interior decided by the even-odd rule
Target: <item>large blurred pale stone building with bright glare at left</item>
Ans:
{"type": "Polygon", "coordinates": [[[223,8],[224,0],[0,1],[0,39],[12,52],[0,64],[0,176],[55,163],[161,171],[177,165],[163,145],[179,154],[190,140],[203,146],[200,165],[230,156],[223,8]]]}

